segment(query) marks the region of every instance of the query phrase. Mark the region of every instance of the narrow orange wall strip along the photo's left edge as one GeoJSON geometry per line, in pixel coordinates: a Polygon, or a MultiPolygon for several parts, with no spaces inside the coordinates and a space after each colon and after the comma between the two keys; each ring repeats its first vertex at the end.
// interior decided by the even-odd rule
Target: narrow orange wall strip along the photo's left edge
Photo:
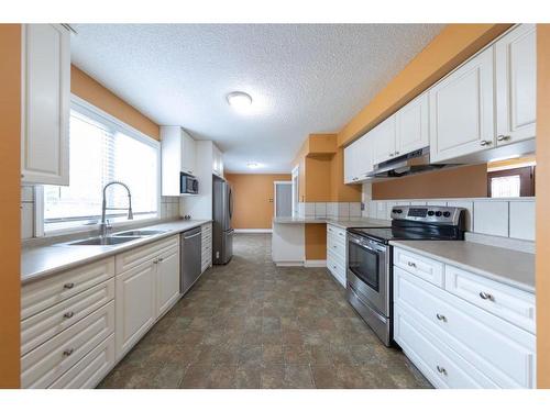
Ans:
{"type": "Polygon", "coordinates": [[[21,25],[0,24],[0,388],[20,386],[21,25]]]}

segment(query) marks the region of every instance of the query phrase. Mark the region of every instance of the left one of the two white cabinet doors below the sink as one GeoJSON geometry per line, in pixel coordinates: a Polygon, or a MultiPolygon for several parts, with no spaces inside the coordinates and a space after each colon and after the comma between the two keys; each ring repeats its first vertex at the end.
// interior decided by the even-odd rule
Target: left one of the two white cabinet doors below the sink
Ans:
{"type": "Polygon", "coordinates": [[[117,276],[117,359],[132,348],[156,320],[156,264],[146,261],[117,276]]]}

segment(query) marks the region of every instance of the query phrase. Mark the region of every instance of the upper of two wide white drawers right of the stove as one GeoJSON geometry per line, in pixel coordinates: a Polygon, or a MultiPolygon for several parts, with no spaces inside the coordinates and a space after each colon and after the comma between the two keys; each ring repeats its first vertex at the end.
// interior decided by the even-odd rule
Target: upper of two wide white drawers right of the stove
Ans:
{"type": "Polygon", "coordinates": [[[441,341],[499,387],[535,387],[535,335],[399,268],[394,301],[426,319],[441,341]]]}

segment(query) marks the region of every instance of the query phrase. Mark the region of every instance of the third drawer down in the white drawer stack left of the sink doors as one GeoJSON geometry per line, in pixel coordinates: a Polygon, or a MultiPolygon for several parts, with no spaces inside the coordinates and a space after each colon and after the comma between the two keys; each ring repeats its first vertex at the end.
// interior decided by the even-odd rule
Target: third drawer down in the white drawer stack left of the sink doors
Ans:
{"type": "Polygon", "coordinates": [[[114,332],[109,302],[21,358],[21,386],[47,388],[114,332]]]}

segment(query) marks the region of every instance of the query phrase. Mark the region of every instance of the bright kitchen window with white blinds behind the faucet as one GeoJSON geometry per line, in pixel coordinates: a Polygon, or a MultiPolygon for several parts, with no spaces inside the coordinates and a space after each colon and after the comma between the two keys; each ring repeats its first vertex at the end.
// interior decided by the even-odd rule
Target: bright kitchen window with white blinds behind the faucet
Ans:
{"type": "MultiPolygon", "coordinates": [[[[102,188],[118,180],[132,192],[134,220],[158,216],[160,144],[117,119],[75,99],[69,125],[69,186],[43,187],[44,234],[85,229],[101,219],[102,188]]],[[[107,205],[128,208],[127,191],[107,189],[107,205]]],[[[108,210],[111,222],[125,210],[108,210]]]]}

